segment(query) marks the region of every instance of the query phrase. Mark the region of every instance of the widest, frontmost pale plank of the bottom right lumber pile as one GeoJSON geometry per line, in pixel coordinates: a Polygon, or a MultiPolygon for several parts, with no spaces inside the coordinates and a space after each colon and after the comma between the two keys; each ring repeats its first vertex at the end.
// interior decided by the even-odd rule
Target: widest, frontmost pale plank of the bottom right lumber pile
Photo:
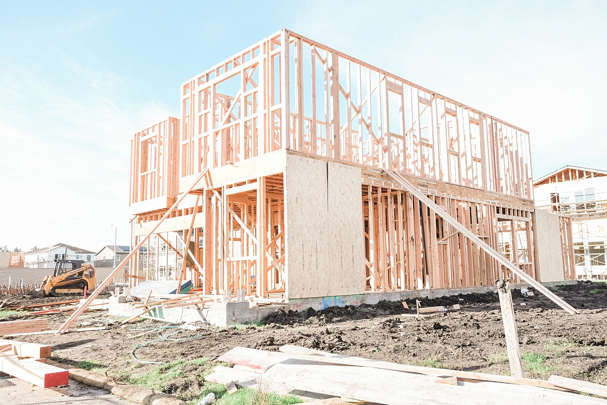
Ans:
{"type": "Polygon", "coordinates": [[[292,390],[344,396],[385,405],[605,405],[607,401],[575,393],[501,383],[437,384],[436,378],[393,370],[330,364],[276,364],[263,375],[266,391],[292,390]]]}

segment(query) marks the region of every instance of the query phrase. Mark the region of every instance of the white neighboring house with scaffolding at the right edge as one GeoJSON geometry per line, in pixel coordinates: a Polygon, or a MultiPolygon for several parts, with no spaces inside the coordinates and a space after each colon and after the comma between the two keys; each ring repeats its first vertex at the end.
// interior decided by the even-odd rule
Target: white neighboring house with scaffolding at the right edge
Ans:
{"type": "Polygon", "coordinates": [[[607,171],[565,166],[534,188],[536,208],[572,219],[578,279],[607,279],[607,171]]]}

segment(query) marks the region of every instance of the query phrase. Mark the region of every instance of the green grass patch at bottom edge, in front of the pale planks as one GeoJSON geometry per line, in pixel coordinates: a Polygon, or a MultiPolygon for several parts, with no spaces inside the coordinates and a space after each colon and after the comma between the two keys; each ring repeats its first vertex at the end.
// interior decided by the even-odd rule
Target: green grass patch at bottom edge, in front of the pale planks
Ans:
{"type": "Polygon", "coordinates": [[[228,395],[222,384],[208,384],[206,389],[188,401],[189,405],[195,405],[205,398],[209,393],[215,394],[215,405],[292,405],[304,402],[299,396],[279,395],[276,393],[264,393],[258,390],[242,387],[231,395],[228,395]]]}

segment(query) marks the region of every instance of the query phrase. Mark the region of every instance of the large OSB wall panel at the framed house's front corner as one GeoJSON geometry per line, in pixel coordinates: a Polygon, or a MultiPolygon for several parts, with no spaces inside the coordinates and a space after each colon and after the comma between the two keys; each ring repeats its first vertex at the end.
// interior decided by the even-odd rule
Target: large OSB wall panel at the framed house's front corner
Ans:
{"type": "Polygon", "coordinates": [[[287,156],[287,294],[364,293],[361,169],[287,156]]]}

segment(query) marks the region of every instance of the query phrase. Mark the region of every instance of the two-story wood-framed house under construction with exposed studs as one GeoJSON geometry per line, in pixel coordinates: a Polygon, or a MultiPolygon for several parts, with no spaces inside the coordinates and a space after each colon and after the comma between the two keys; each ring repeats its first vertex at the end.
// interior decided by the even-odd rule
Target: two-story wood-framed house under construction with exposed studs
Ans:
{"type": "Polygon", "coordinates": [[[133,285],[297,302],[575,279],[523,129],[288,30],[180,94],[132,140],[132,245],[158,225],[133,285]]]}

